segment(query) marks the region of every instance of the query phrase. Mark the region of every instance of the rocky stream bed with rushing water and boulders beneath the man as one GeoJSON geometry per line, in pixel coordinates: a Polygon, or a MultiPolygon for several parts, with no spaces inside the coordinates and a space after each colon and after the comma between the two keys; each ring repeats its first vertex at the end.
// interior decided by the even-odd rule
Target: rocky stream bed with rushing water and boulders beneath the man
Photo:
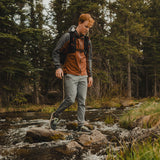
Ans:
{"type": "Polygon", "coordinates": [[[107,151],[112,150],[114,154],[124,143],[129,145],[153,134],[152,129],[127,130],[119,126],[119,116],[132,107],[88,107],[89,133],[75,130],[76,112],[73,111],[63,113],[56,131],[49,129],[50,114],[47,113],[0,114],[0,159],[106,160],[107,151]]]}

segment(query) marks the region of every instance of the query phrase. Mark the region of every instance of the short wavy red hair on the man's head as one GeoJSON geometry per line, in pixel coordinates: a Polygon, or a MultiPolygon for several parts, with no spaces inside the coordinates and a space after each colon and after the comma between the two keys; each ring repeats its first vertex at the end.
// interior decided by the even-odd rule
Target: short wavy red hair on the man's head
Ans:
{"type": "Polygon", "coordinates": [[[83,23],[84,21],[89,21],[89,27],[92,27],[94,24],[94,19],[90,14],[81,14],[78,19],[78,23],[83,23]]]}

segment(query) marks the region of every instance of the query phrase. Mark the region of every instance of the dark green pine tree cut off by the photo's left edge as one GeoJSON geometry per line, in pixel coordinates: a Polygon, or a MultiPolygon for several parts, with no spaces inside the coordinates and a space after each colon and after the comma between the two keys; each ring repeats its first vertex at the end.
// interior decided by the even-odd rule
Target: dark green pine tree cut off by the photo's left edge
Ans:
{"type": "MultiPolygon", "coordinates": [[[[28,59],[24,56],[19,37],[19,15],[23,11],[19,8],[24,5],[21,0],[1,0],[0,2],[0,92],[2,106],[12,102],[17,92],[20,92],[28,77],[31,67],[28,59]]],[[[20,22],[19,22],[20,21],[20,22]]],[[[21,23],[22,24],[22,23],[21,23]]]]}

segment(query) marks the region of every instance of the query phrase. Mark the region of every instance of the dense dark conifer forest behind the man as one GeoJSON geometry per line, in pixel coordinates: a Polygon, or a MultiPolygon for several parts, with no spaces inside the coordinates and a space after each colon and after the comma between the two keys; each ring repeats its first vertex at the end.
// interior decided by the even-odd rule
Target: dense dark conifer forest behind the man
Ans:
{"type": "Polygon", "coordinates": [[[0,0],[1,106],[62,100],[52,51],[81,13],[95,19],[88,97],[160,96],[159,0],[0,0]]]}

